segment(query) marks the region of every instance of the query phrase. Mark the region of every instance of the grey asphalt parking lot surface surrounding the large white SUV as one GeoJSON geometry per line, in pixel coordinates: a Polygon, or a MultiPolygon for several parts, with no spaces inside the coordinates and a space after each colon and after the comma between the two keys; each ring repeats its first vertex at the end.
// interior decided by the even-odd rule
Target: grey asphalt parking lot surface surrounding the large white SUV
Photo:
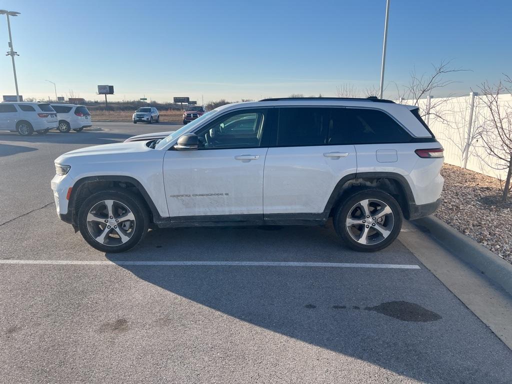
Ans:
{"type": "Polygon", "coordinates": [[[0,382],[510,382],[512,352],[400,241],[357,253],[328,225],[89,247],[57,218],[53,160],[179,127],[94,125],[0,133],[0,382]]]}

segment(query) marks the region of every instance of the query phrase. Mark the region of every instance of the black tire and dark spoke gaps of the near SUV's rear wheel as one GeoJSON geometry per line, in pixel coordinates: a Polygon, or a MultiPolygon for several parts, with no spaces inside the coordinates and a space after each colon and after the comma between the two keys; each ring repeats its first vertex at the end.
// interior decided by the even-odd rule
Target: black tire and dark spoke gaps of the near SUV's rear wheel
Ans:
{"type": "MultiPolygon", "coordinates": [[[[371,213],[372,212],[370,212],[370,216],[371,213]]],[[[391,243],[393,243],[393,241],[397,238],[398,234],[400,233],[402,221],[402,209],[400,208],[400,205],[393,196],[379,189],[362,189],[356,191],[347,199],[344,199],[344,201],[341,204],[339,204],[334,213],[333,225],[338,236],[349,248],[359,252],[375,252],[380,249],[386,248],[391,243]],[[383,221],[381,223],[378,223],[377,221],[375,222],[376,225],[384,224],[385,226],[387,226],[388,229],[391,229],[389,235],[380,241],[379,239],[380,236],[382,235],[380,234],[380,232],[376,231],[375,229],[372,229],[371,227],[371,225],[374,224],[373,218],[370,217],[369,219],[366,219],[366,217],[364,217],[365,215],[361,215],[360,218],[358,218],[369,220],[369,222],[365,223],[366,228],[369,228],[367,238],[369,239],[370,242],[375,241],[374,244],[361,244],[353,238],[354,232],[360,231],[360,233],[362,234],[362,231],[365,230],[362,224],[351,227],[350,231],[352,234],[349,233],[349,229],[347,228],[347,219],[349,213],[351,214],[351,217],[354,212],[359,212],[360,214],[362,214],[362,210],[360,210],[360,208],[355,208],[354,210],[354,207],[359,202],[367,199],[375,200],[371,202],[372,209],[374,209],[373,212],[377,211],[377,208],[380,206],[379,202],[381,202],[388,205],[389,208],[391,208],[393,214],[392,216],[386,215],[385,218],[382,219],[383,221]],[[370,224],[370,226],[368,226],[367,224],[370,224]]],[[[382,227],[383,226],[381,226],[381,228],[382,227]]]]}

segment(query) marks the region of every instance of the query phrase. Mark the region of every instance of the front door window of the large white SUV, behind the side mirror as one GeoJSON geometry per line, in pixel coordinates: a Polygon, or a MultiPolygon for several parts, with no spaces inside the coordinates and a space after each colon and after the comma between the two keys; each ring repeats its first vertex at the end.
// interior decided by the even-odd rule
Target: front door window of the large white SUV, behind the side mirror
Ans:
{"type": "Polygon", "coordinates": [[[264,110],[238,112],[216,119],[196,132],[199,149],[262,146],[264,121],[264,110]]]}

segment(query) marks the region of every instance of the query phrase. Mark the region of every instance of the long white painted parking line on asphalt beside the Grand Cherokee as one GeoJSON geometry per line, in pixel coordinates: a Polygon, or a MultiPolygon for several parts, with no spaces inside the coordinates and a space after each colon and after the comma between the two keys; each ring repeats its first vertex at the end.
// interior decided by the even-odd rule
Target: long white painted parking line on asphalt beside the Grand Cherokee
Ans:
{"type": "Polygon", "coordinates": [[[0,264],[52,265],[167,265],[167,266],[243,266],[243,267],[337,267],[337,268],[391,268],[420,269],[419,265],[364,264],[364,263],[301,263],[256,261],[81,261],[81,260],[0,260],[0,264]]]}

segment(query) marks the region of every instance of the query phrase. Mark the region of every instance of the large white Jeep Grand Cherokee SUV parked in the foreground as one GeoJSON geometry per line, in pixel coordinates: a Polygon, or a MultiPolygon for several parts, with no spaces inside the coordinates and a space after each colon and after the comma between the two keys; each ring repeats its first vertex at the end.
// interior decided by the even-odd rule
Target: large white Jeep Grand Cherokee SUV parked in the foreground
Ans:
{"type": "Polygon", "coordinates": [[[402,217],[439,204],[443,149],[414,106],[278,98],[221,106],[164,139],[55,160],[60,219],[104,252],[150,225],[324,225],[359,251],[387,247],[402,217]]]}

